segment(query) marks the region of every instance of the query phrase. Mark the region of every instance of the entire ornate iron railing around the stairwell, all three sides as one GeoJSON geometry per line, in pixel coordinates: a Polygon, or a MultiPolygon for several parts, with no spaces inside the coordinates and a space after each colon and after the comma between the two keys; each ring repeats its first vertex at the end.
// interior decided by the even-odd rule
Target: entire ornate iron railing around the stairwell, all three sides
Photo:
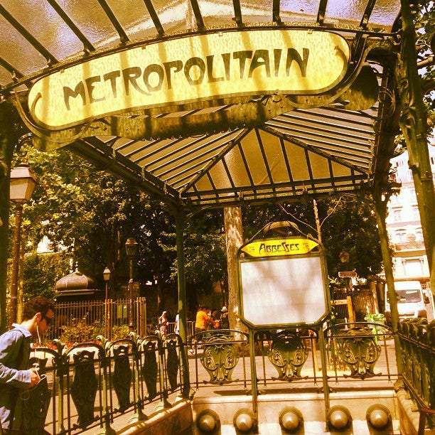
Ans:
{"type": "MultiPolygon", "coordinates": [[[[433,407],[434,327],[407,321],[399,335],[404,357],[414,362],[404,374],[407,387],[420,392],[421,407],[433,407]]],[[[150,406],[166,409],[176,395],[186,395],[184,370],[189,370],[191,394],[207,395],[210,388],[223,394],[250,392],[253,402],[260,389],[323,391],[325,402],[330,391],[352,388],[352,382],[359,389],[391,389],[398,379],[393,338],[387,326],[361,322],[326,330],[212,330],[192,335],[188,343],[173,333],[163,338],[131,333],[113,342],[99,337],[71,348],[56,340],[55,349],[32,353],[31,363],[38,363],[45,379],[24,397],[28,429],[78,434],[100,428],[113,433],[111,424],[120,415],[130,412],[136,421],[147,419],[150,406]],[[185,351],[189,367],[182,363],[185,351]]]]}

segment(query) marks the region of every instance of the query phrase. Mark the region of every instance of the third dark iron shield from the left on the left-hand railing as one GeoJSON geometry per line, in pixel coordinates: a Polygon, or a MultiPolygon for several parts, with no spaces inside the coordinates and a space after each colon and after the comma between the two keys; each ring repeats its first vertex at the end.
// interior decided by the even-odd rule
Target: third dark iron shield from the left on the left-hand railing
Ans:
{"type": "Polygon", "coordinates": [[[119,411],[130,405],[131,367],[129,363],[129,345],[114,345],[113,387],[119,402],[119,411]]]}

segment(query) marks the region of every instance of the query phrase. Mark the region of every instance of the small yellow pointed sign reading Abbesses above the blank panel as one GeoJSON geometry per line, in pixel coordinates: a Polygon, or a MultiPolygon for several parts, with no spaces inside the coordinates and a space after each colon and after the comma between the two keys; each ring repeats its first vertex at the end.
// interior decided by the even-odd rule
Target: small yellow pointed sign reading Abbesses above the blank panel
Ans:
{"type": "Polygon", "coordinates": [[[284,255],[306,254],[318,246],[311,239],[288,237],[286,239],[257,240],[240,248],[250,257],[278,257],[284,255]]]}

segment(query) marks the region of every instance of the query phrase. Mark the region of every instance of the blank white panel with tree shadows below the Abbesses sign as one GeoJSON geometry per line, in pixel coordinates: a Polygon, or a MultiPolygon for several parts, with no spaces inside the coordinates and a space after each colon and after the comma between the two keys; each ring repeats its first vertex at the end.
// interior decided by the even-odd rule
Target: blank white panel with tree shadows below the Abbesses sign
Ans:
{"type": "Polygon", "coordinates": [[[326,313],[321,258],[240,262],[242,317],[253,326],[318,323],[326,313]]]}

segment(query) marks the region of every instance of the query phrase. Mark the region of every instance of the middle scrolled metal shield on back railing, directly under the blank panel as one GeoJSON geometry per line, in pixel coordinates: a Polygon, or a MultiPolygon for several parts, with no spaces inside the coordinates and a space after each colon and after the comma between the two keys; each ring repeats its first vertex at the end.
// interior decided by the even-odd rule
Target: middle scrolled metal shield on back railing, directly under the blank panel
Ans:
{"type": "Polygon", "coordinates": [[[301,370],[308,358],[308,349],[296,334],[284,332],[274,338],[268,357],[278,371],[278,377],[272,379],[291,382],[302,378],[301,370]]]}

